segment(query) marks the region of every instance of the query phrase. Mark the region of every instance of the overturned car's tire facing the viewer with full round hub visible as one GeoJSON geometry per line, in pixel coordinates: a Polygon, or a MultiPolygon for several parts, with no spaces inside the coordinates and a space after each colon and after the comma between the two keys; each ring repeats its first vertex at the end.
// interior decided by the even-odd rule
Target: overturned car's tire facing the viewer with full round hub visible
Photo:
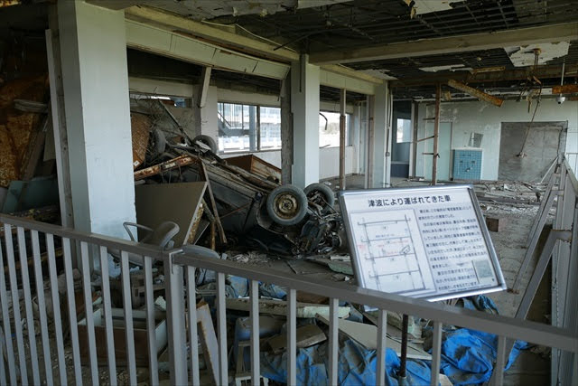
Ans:
{"type": "Polygon", "coordinates": [[[297,186],[286,184],[276,187],[267,196],[269,217],[279,225],[294,225],[307,214],[307,196],[297,186]]]}

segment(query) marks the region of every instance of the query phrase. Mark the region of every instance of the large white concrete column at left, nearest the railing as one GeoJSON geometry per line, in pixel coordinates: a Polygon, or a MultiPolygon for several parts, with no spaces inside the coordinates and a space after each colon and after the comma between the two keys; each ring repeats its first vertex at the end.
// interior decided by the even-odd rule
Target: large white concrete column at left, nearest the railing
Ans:
{"type": "Polygon", "coordinates": [[[135,183],[125,14],[78,1],[56,6],[74,226],[126,238],[135,183]]]}

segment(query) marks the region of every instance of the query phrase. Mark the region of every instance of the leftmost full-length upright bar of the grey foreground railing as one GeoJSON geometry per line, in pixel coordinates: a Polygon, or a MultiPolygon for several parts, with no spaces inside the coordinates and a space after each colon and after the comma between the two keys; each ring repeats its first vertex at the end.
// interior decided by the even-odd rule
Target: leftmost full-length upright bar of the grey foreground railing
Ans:
{"type": "MultiPolygon", "coordinates": [[[[18,346],[18,363],[20,364],[20,383],[28,383],[28,372],[26,370],[26,354],[24,353],[24,340],[22,333],[22,317],[20,316],[20,298],[18,296],[18,280],[16,278],[16,266],[14,261],[14,245],[12,243],[12,227],[10,224],[4,225],[6,261],[8,263],[8,277],[10,278],[10,294],[12,295],[12,310],[14,313],[14,331],[16,333],[16,344],[18,346]]],[[[26,264],[28,267],[28,264],[26,264]]]]}

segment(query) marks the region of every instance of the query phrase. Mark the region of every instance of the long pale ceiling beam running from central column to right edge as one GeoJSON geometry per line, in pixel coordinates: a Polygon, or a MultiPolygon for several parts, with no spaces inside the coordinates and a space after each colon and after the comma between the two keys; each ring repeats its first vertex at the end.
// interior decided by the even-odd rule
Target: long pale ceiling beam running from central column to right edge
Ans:
{"type": "Polygon", "coordinates": [[[518,28],[495,33],[471,33],[412,42],[397,42],[349,51],[328,50],[312,52],[312,64],[382,61],[452,52],[491,50],[508,46],[542,42],[569,42],[578,39],[578,22],[518,28]]]}

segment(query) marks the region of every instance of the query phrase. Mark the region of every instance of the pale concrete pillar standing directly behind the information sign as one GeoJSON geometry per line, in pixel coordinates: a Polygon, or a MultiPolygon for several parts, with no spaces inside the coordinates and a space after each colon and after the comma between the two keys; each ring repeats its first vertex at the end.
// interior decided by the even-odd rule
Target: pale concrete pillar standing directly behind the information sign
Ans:
{"type": "Polygon", "coordinates": [[[369,155],[372,159],[369,162],[371,166],[368,173],[371,174],[370,188],[383,188],[389,184],[389,165],[391,163],[391,136],[390,125],[390,99],[387,83],[376,89],[374,98],[371,98],[373,107],[373,137],[369,138],[368,146],[371,146],[369,155]]]}

